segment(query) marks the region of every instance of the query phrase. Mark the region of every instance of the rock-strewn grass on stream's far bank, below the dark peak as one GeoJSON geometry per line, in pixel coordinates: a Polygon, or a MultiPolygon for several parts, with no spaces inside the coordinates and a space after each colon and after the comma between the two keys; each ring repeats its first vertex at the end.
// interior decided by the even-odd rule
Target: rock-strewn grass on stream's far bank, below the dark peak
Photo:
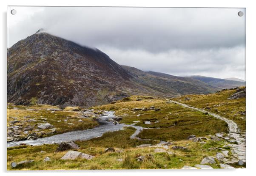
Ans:
{"type": "MultiPolygon", "coordinates": [[[[7,126],[20,126],[24,128],[26,126],[32,126],[32,130],[29,133],[36,132],[38,136],[45,137],[50,135],[55,135],[58,133],[69,132],[74,130],[82,130],[94,128],[98,125],[97,121],[94,121],[90,118],[82,118],[83,122],[78,122],[81,118],[80,112],[73,112],[69,110],[63,111],[51,111],[49,108],[57,108],[56,106],[38,104],[34,106],[16,106],[14,104],[8,104],[7,106],[7,126]],[[20,122],[16,124],[11,124],[10,121],[18,120],[20,122]],[[28,122],[27,120],[34,119],[34,122],[28,122]],[[41,123],[50,123],[56,128],[56,132],[53,134],[50,129],[40,129],[37,131],[37,124],[41,123]],[[71,123],[71,124],[68,124],[71,123]],[[73,125],[72,125],[73,124],[73,125]]],[[[70,108],[72,110],[72,108],[70,108]]],[[[20,132],[20,135],[26,136],[23,134],[23,131],[20,132]]]]}

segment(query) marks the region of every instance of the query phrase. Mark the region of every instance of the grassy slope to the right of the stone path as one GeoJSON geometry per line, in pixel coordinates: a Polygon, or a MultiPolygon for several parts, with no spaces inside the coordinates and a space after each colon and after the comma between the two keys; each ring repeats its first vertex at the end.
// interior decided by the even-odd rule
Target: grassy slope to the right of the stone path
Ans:
{"type": "Polygon", "coordinates": [[[245,98],[229,100],[237,90],[223,90],[208,95],[184,95],[174,98],[184,104],[205,109],[209,112],[219,114],[225,118],[233,120],[239,126],[242,132],[245,132],[245,115],[240,112],[245,111],[245,98]],[[185,100],[188,97],[190,100],[185,100]]]}

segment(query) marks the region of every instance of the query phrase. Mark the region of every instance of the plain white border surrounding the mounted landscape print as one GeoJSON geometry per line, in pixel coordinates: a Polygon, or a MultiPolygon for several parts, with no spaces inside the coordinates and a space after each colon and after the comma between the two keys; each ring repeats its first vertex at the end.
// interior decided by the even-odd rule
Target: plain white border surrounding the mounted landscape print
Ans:
{"type": "Polygon", "coordinates": [[[254,107],[255,104],[255,17],[256,17],[256,7],[253,4],[253,0],[176,0],[176,1],[167,1],[167,0],[1,0],[1,69],[0,69],[0,78],[1,78],[1,159],[0,167],[3,176],[14,176],[14,175],[26,175],[26,176],[45,176],[45,171],[30,171],[30,172],[7,172],[6,171],[6,8],[7,5],[51,5],[51,6],[147,6],[147,7],[239,7],[246,8],[246,85],[247,85],[247,98],[246,98],[246,117],[247,117],[247,126],[246,126],[246,137],[247,137],[247,165],[246,169],[236,169],[236,170],[84,170],[84,171],[55,171],[47,172],[49,176],[70,176],[75,174],[76,176],[85,176],[85,175],[97,175],[97,176],[130,176],[134,175],[156,175],[160,173],[162,175],[232,175],[232,176],[242,176],[250,175],[253,173],[254,165],[256,163],[255,155],[255,115],[254,107]]]}

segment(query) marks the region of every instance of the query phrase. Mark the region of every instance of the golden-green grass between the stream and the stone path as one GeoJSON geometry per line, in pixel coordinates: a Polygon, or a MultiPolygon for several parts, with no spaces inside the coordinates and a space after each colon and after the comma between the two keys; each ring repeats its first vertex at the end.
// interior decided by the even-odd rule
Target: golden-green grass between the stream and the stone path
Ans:
{"type": "Polygon", "coordinates": [[[94,107],[96,110],[114,110],[122,116],[120,123],[134,124],[145,128],[138,137],[155,140],[183,140],[189,135],[210,135],[216,132],[227,132],[228,124],[225,121],[213,118],[210,115],[193,111],[178,104],[167,103],[165,99],[152,99],[148,96],[131,96],[114,104],[94,107]],[[136,99],[142,99],[136,101],[136,99]],[[150,110],[154,106],[155,109],[150,110]],[[148,110],[133,110],[145,107],[148,110]],[[150,121],[151,124],[145,124],[150,121]],[[207,126],[205,126],[207,124],[207,126]]]}

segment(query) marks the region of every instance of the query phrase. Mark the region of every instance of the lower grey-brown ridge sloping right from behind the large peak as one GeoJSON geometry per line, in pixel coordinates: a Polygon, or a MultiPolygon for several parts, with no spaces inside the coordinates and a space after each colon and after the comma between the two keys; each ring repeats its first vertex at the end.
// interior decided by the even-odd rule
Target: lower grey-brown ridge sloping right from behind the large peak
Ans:
{"type": "Polygon", "coordinates": [[[151,92],[165,96],[176,96],[184,94],[201,94],[218,91],[217,88],[209,86],[199,80],[189,77],[177,77],[154,71],[142,71],[130,66],[122,66],[132,74],[131,80],[142,87],[150,88],[151,92]]]}

